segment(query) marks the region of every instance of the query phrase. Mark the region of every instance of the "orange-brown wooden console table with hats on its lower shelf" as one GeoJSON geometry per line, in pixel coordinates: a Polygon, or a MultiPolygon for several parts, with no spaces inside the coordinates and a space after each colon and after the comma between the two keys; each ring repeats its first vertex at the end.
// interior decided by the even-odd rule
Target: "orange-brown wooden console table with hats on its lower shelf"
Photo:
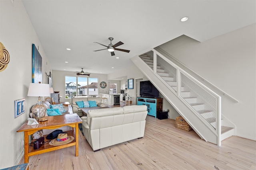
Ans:
{"type": "MultiPolygon", "coordinates": [[[[28,121],[26,121],[17,132],[24,132],[24,163],[28,163],[28,157],[36,154],[41,154],[45,152],[50,152],[53,150],[58,150],[66,147],[76,146],[76,156],[78,156],[78,123],[82,123],[80,117],[74,114],[65,114],[65,115],[57,115],[57,116],[49,116],[48,121],[40,122],[39,125],[27,125],[28,121]],[[52,146],[49,143],[45,143],[39,149],[35,149],[34,147],[29,147],[28,137],[32,135],[36,131],[40,129],[57,129],[63,126],[72,127],[71,131],[67,131],[69,136],[73,136],[75,139],[66,144],[60,146],[52,146]],[[75,130],[74,130],[75,128],[75,130]]],[[[44,141],[48,141],[46,139],[47,135],[44,135],[44,141]]],[[[35,141],[35,140],[33,140],[35,141]]]]}

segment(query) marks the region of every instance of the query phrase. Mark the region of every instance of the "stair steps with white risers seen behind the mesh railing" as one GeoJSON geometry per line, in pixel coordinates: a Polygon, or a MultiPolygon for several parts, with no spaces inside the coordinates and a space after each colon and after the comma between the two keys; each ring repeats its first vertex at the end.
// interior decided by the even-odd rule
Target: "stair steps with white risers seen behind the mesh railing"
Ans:
{"type": "MultiPolygon", "coordinates": [[[[152,70],[154,69],[154,61],[152,57],[143,54],[139,56],[140,59],[144,61],[152,70]]],[[[156,74],[160,76],[162,80],[166,83],[167,86],[170,86],[173,89],[173,92],[177,92],[177,80],[174,76],[172,76],[164,66],[161,66],[157,63],[156,66],[156,74]]],[[[193,110],[193,112],[197,113],[200,118],[204,120],[204,122],[208,123],[211,127],[216,129],[216,111],[214,111],[211,107],[209,107],[209,103],[206,100],[200,98],[200,93],[196,94],[194,91],[192,92],[191,88],[188,88],[186,84],[182,84],[180,87],[180,96],[182,97],[183,102],[193,110]]],[[[232,136],[234,134],[234,128],[221,126],[221,141],[232,136]]]]}

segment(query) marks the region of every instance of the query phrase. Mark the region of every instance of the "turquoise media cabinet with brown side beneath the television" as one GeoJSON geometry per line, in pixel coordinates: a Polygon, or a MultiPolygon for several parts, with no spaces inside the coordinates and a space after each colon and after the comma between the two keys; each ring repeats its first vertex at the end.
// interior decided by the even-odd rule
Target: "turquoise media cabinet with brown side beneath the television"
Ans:
{"type": "Polygon", "coordinates": [[[156,117],[158,111],[163,110],[163,99],[162,98],[137,98],[137,105],[147,106],[148,115],[156,117]]]}

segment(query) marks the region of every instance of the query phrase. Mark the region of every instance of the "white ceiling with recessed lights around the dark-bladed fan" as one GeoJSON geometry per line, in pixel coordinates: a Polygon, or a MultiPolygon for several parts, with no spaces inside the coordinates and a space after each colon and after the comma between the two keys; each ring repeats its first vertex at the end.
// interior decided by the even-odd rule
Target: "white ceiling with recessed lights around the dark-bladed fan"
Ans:
{"type": "Polygon", "coordinates": [[[255,0],[22,1],[52,70],[74,72],[118,72],[131,57],[180,35],[202,42],[256,22],[255,0]],[[180,22],[183,16],[189,20],[180,22]],[[108,37],[130,53],[93,52],[105,48],[93,42],[108,45],[108,37]]]}

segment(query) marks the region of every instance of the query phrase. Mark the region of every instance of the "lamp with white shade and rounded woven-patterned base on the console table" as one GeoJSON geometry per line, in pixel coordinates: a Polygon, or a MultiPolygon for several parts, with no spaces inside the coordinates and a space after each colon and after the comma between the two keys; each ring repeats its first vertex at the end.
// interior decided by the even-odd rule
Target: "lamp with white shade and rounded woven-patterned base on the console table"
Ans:
{"type": "Polygon", "coordinates": [[[46,107],[42,104],[41,97],[50,96],[49,84],[30,83],[28,88],[28,96],[38,97],[38,102],[32,107],[33,118],[38,120],[46,114],[46,107]]]}

